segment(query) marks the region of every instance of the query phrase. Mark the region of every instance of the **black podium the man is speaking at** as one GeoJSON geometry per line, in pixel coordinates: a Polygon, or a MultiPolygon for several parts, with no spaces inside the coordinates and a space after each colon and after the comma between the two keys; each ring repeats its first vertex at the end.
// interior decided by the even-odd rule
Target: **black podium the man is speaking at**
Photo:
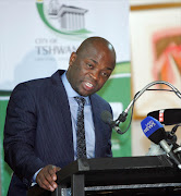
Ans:
{"type": "Polygon", "coordinates": [[[181,195],[181,170],[166,155],[79,159],[57,174],[53,193],[36,185],[27,196],[181,195]]]}

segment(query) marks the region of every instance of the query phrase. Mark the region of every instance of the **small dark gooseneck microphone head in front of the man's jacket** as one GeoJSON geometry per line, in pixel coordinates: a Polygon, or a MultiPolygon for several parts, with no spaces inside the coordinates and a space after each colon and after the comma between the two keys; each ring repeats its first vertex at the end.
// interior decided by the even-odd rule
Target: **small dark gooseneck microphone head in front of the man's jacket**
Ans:
{"type": "Polygon", "coordinates": [[[106,124],[109,124],[111,128],[117,131],[117,133],[121,134],[120,127],[116,124],[116,122],[113,121],[112,114],[109,111],[105,110],[101,112],[101,120],[106,124]]]}

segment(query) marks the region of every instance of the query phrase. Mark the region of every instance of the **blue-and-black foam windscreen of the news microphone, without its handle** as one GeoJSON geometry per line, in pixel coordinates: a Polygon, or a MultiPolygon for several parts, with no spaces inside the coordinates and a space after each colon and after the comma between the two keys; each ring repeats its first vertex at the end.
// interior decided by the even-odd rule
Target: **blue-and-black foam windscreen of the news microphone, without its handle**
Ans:
{"type": "Polygon", "coordinates": [[[162,124],[153,117],[144,119],[141,122],[141,125],[146,137],[148,137],[153,143],[159,144],[160,140],[166,138],[166,132],[162,124]]]}

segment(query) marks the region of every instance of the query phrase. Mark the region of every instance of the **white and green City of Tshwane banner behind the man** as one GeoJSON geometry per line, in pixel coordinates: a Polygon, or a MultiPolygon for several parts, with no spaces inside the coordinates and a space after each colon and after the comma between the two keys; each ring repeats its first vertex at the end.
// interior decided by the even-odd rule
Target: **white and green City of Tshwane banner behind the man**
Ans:
{"type": "MultiPolygon", "coordinates": [[[[12,89],[22,82],[68,69],[69,57],[87,37],[108,39],[117,68],[98,93],[117,118],[130,102],[129,2],[125,0],[1,0],[0,1],[0,172],[7,195],[11,169],[3,160],[3,126],[12,89]]],[[[114,157],[131,156],[130,130],[112,133],[114,157]]]]}

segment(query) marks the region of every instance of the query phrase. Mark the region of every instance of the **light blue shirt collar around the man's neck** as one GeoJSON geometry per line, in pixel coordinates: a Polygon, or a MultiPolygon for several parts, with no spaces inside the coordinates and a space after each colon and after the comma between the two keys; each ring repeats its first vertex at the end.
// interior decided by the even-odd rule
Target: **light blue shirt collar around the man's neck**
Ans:
{"type": "MultiPolygon", "coordinates": [[[[67,95],[69,98],[73,98],[73,97],[83,97],[83,96],[80,96],[71,86],[71,84],[69,83],[68,78],[67,78],[67,72],[64,72],[62,75],[61,75],[61,79],[62,79],[62,83],[64,85],[64,88],[65,88],[65,91],[67,91],[67,95]]],[[[89,97],[84,97],[85,98],[85,103],[86,105],[90,105],[90,101],[89,101],[89,97]]]]}

